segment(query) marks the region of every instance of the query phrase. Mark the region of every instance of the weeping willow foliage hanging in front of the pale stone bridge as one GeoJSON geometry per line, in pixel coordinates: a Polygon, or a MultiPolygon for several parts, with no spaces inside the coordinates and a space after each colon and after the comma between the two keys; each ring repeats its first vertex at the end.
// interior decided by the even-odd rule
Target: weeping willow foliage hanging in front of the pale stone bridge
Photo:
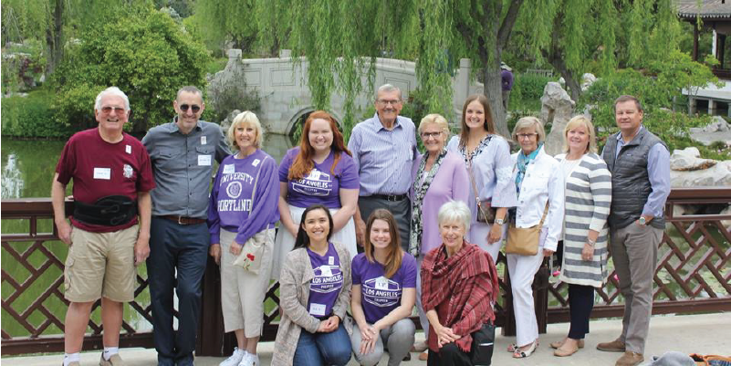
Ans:
{"type": "Polygon", "coordinates": [[[316,108],[328,109],[334,92],[345,96],[346,133],[356,121],[355,97],[374,87],[376,58],[415,60],[427,108],[447,117],[451,116],[454,65],[459,58],[471,58],[483,73],[486,96],[505,133],[500,54],[522,3],[258,0],[258,42],[264,48],[277,42],[291,47],[294,55],[307,57],[316,108]]]}

